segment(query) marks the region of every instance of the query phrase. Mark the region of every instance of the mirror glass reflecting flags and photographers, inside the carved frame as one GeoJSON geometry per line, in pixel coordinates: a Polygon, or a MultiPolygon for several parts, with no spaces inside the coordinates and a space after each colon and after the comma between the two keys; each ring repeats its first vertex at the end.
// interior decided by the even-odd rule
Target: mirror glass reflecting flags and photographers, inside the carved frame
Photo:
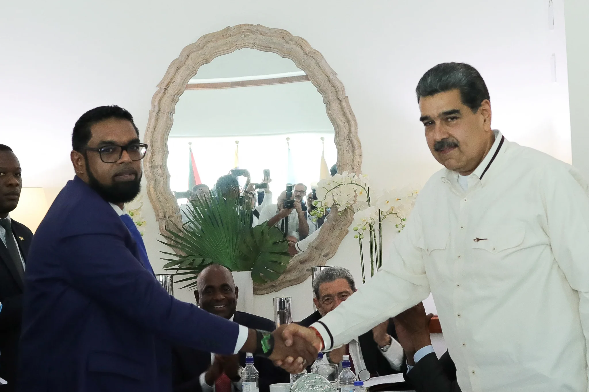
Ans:
{"type": "Polygon", "coordinates": [[[183,221],[189,199],[233,193],[253,226],[305,239],[322,225],[309,212],[337,160],[333,139],[322,96],[290,59],[247,48],[215,58],[188,82],[168,138],[183,221]]]}

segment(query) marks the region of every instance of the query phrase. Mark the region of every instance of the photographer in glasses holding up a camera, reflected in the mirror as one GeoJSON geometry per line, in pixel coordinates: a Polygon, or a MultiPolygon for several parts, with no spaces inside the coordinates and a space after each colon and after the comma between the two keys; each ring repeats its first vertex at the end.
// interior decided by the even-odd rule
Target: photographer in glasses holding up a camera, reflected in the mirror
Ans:
{"type": "MultiPolygon", "coordinates": [[[[305,195],[305,185],[287,184],[286,190],[280,193],[278,202],[273,205],[268,205],[260,212],[259,222],[268,222],[268,226],[276,226],[284,233],[284,236],[291,236],[294,239],[302,240],[309,235],[309,224],[307,217],[303,212],[302,203],[300,199],[293,198],[293,193],[300,193],[305,195]]],[[[302,199],[302,197],[301,197],[302,199]]]]}

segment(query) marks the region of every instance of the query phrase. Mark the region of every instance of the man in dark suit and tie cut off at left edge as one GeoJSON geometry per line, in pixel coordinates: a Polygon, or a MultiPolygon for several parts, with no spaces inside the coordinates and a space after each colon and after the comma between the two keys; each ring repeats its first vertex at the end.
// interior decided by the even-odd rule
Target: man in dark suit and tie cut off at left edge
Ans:
{"type": "Polygon", "coordinates": [[[8,146],[0,144],[0,391],[16,390],[18,338],[21,335],[24,270],[33,233],[10,219],[21,195],[21,165],[8,146]]]}

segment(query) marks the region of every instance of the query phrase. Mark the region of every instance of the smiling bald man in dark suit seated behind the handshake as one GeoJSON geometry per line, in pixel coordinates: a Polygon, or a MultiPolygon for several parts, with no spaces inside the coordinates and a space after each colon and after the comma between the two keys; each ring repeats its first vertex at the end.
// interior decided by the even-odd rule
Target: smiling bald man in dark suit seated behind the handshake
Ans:
{"type": "MultiPolygon", "coordinates": [[[[200,309],[252,329],[273,331],[274,321],[254,314],[236,311],[239,287],[226,267],[213,264],[198,274],[194,297],[200,309]]],[[[174,392],[236,392],[241,388],[241,368],[246,354],[222,356],[209,351],[176,346],[172,351],[174,392]]],[[[268,392],[270,384],[288,383],[289,375],[272,361],[256,357],[254,366],[260,372],[259,390],[268,392]]]]}

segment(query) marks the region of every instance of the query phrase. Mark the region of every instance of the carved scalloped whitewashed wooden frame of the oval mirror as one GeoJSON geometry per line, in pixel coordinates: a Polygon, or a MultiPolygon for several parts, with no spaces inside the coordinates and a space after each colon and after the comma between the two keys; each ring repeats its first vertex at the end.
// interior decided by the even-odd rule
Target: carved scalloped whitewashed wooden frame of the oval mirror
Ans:
{"type": "MultiPolygon", "coordinates": [[[[360,172],[362,150],[356,117],[350,108],[342,82],[337,79],[337,74],[321,53],[313,49],[305,39],[293,36],[282,29],[249,24],[227,27],[203,35],[197,42],[186,46],[168,67],[166,75],[157,85],[157,92],[151,99],[151,110],[145,130],[145,143],[148,143],[150,148],[145,157],[144,170],[147,178],[147,195],[155,210],[155,218],[161,233],[166,233],[168,222],[181,225],[180,209],[170,189],[170,173],[166,166],[167,140],[172,128],[176,103],[188,81],[196,75],[201,65],[210,63],[217,56],[242,48],[277,53],[291,59],[298,68],[305,71],[323,96],[327,116],[333,124],[339,171],[360,172]]],[[[272,293],[305,282],[310,276],[311,267],[325,265],[327,259],[335,254],[343,237],[348,233],[352,218],[352,213],[348,210],[342,215],[332,212],[306,252],[294,256],[278,280],[254,284],[254,293],[272,293]]]]}

